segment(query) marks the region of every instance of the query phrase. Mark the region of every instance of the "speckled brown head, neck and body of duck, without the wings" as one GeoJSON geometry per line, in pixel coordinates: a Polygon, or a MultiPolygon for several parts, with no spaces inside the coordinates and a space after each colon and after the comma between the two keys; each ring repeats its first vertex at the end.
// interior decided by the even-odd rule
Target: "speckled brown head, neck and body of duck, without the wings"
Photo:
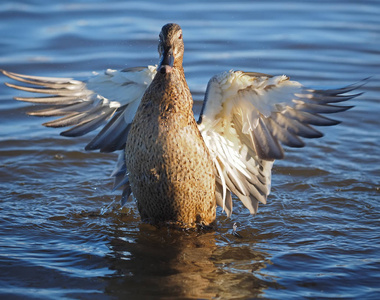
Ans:
{"type": "Polygon", "coordinates": [[[165,25],[160,34],[159,72],[137,110],[125,155],[142,219],[191,227],[215,220],[215,177],[194,119],[183,51],[181,28],[165,25]],[[168,53],[172,66],[166,65],[168,53]]]}

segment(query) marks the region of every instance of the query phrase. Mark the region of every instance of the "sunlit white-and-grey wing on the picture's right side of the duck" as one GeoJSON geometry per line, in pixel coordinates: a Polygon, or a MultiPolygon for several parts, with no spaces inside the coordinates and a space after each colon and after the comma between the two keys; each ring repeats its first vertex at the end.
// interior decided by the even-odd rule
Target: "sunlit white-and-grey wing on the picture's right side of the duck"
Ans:
{"type": "Polygon", "coordinates": [[[232,212],[230,192],[254,214],[270,193],[273,161],[284,157],[281,144],[303,147],[303,138],[319,138],[312,127],[339,122],[322,116],[345,111],[338,106],[364,83],[341,89],[313,90],[288,77],[230,71],[208,83],[198,121],[214,156],[217,203],[232,212]]]}

